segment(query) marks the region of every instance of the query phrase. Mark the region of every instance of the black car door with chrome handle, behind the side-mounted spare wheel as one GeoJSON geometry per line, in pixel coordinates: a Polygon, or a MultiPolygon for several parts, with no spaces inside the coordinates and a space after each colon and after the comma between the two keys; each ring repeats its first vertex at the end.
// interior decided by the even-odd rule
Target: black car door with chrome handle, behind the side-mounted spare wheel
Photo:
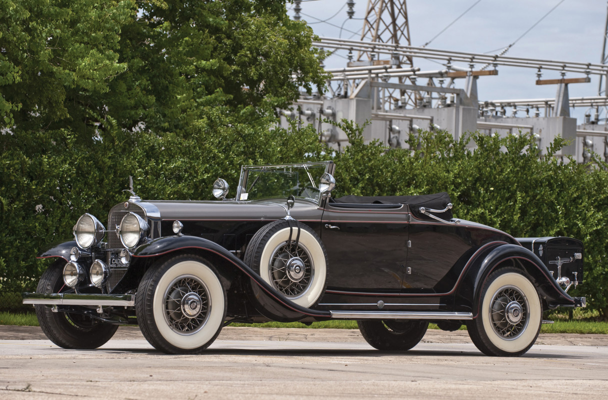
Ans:
{"type": "Polygon", "coordinates": [[[408,225],[401,204],[328,202],[321,224],[329,261],[327,289],[400,291],[408,225]]]}

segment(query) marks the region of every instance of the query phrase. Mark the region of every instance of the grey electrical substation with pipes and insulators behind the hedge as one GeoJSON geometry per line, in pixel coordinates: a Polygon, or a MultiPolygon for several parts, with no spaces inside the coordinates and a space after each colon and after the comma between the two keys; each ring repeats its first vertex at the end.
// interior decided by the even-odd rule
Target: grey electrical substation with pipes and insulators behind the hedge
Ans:
{"type": "MultiPolygon", "coordinates": [[[[353,0],[345,4],[348,18],[353,17],[353,5],[353,0]]],[[[302,1],[294,1],[295,19],[302,9],[302,1]]],[[[513,44],[496,54],[411,46],[406,0],[368,0],[362,20],[357,40],[320,37],[313,43],[342,54],[345,65],[326,69],[331,78],[325,94],[303,93],[291,109],[282,110],[282,126],[289,120],[300,126],[314,124],[320,139],[336,149],[348,145],[348,138],[323,119],[349,119],[360,125],[369,121],[366,142],[377,139],[401,148],[418,129],[445,129],[455,139],[474,131],[500,136],[521,131],[533,134],[543,151],[556,136],[567,139],[570,144],[556,156],[570,155],[582,163],[595,151],[608,160],[608,126],[606,118],[599,117],[608,106],[608,19],[601,63],[510,57],[513,44]],[[433,60],[438,69],[422,71],[416,66],[422,59],[433,60]],[[498,75],[501,67],[527,69],[536,75],[536,85],[553,86],[555,97],[479,98],[478,86],[498,75]],[[592,78],[599,79],[597,91],[570,97],[568,86],[592,78]],[[572,108],[587,110],[583,123],[571,116],[572,108]]]]}

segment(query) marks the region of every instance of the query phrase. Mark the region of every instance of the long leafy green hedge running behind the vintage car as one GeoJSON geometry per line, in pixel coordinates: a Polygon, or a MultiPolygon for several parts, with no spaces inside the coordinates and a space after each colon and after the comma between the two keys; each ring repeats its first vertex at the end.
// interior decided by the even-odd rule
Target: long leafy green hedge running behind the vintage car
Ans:
{"type": "MultiPolygon", "coordinates": [[[[36,253],[71,238],[72,226],[84,212],[104,221],[109,208],[126,198],[122,190],[130,175],[142,198],[208,199],[218,176],[236,187],[241,164],[333,157],[336,196],[447,191],[459,218],[513,236],[581,239],[585,283],[570,293],[586,295],[588,307],[608,317],[608,166],[601,160],[578,165],[540,157],[528,136],[473,134],[454,140],[442,131],[412,135],[413,150],[389,150],[378,142],[365,145],[361,128],[347,121],[341,128],[351,145],[334,154],[311,128],[269,130],[270,120],[240,123],[220,109],[207,115],[188,135],[123,134],[111,126],[92,144],[78,142],[67,130],[0,135],[2,291],[32,288],[46,265],[35,261],[36,253]],[[471,139],[475,151],[466,147],[471,139]]],[[[550,153],[561,145],[557,139],[550,153]]]]}

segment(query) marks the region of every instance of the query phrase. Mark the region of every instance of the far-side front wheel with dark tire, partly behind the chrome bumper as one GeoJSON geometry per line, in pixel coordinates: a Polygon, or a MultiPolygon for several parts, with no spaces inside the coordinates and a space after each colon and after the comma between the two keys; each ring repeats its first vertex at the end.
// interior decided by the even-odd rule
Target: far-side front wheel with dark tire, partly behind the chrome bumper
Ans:
{"type": "MultiPolygon", "coordinates": [[[[56,261],[40,278],[37,293],[58,293],[63,288],[63,264],[56,261]]],[[[118,325],[100,322],[73,312],[53,312],[48,306],[36,304],[36,317],[49,340],[59,347],[90,349],[108,342],[118,325]]]]}

